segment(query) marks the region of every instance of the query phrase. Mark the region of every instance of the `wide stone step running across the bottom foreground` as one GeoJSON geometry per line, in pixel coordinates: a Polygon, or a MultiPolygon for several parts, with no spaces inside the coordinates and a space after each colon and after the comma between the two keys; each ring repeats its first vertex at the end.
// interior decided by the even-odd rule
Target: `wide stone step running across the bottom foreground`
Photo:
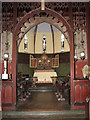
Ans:
{"type": "Polygon", "coordinates": [[[30,119],[30,120],[85,120],[84,110],[66,111],[3,111],[4,119],[30,119]]]}

